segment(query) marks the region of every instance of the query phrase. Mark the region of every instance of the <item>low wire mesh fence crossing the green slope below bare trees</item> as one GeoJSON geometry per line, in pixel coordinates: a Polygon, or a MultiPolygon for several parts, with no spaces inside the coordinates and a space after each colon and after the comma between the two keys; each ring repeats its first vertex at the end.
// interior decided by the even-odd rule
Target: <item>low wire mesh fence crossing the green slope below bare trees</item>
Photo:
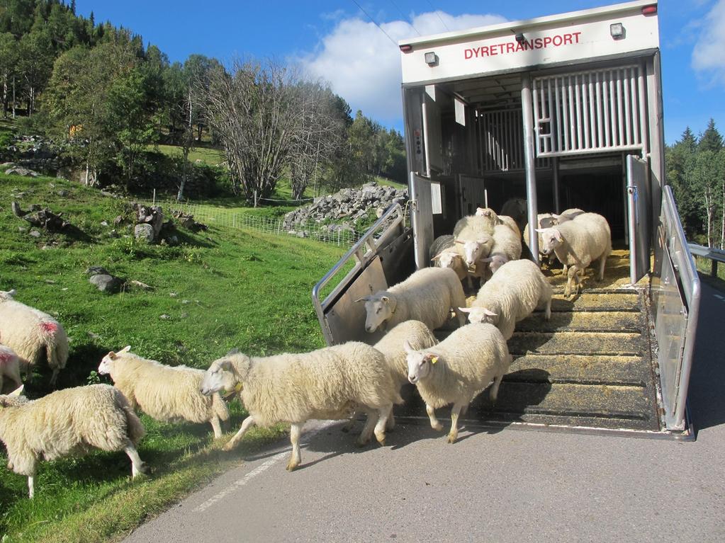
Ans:
{"type": "Polygon", "coordinates": [[[250,229],[280,236],[305,237],[311,240],[334,243],[339,247],[352,247],[365,233],[341,224],[319,224],[317,222],[285,227],[283,219],[250,215],[236,209],[224,209],[198,203],[169,200],[156,201],[156,203],[146,202],[145,204],[148,206],[161,206],[167,214],[172,211],[182,211],[185,214],[193,215],[194,220],[197,222],[209,226],[239,230],[250,229]]]}

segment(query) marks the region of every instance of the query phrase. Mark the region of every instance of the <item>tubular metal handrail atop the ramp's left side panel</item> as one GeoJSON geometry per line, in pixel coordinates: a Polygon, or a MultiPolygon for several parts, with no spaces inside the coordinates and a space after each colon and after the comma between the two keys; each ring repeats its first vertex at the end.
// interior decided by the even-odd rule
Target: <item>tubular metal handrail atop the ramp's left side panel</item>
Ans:
{"type": "Polygon", "coordinates": [[[373,258],[375,258],[378,246],[382,240],[386,240],[389,232],[395,230],[400,224],[405,224],[405,211],[402,207],[396,203],[390,206],[387,211],[378,219],[373,226],[368,229],[368,232],[363,234],[363,237],[350,248],[342,258],[332,266],[322,279],[320,279],[312,287],[312,305],[315,306],[315,312],[318,315],[320,321],[320,327],[323,330],[326,338],[328,337],[328,329],[325,323],[325,310],[330,303],[334,302],[340,295],[340,293],[347,288],[348,283],[354,279],[358,272],[365,269],[373,258]],[[377,235],[379,232],[379,235],[377,235]],[[352,267],[344,279],[326,296],[326,298],[320,301],[320,292],[322,292],[325,285],[328,284],[339,272],[344,269],[346,264],[355,258],[355,266],[352,267]]]}

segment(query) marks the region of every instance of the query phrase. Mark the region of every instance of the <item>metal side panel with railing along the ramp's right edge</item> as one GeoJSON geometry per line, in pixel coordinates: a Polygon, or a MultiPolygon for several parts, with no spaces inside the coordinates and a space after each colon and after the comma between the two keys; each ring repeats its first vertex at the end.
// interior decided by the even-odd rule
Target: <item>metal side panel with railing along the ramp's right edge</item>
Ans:
{"type": "Polygon", "coordinates": [[[657,238],[651,296],[663,415],[668,430],[684,431],[700,308],[700,277],[684,237],[672,190],[667,185],[662,190],[657,238]]]}

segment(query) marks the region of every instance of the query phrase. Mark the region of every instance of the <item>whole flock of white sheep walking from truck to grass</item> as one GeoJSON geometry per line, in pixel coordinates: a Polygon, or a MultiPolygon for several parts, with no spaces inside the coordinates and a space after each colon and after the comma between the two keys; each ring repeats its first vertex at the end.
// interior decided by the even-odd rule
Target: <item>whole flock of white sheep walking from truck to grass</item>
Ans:
{"type": "MultiPolygon", "coordinates": [[[[600,279],[611,251],[610,230],[597,214],[568,210],[540,216],[544,255],[555,254],[568,267],[579,289],[579,275],[597,258],[600,279]]],[[[496,399],[512,358],[507,340],[515,323],[535,308],[551,313],[552,287],[534,262],[521,260],[521,232],[509,216],[492,209],[460,219],[450,236],[431,246],[435,267],[415,271],[388,290],[366,296],[365,330],[389,329],[376,345],[347,342],[310,353],[250,357],[236,350],[211,363],[207,371],[170,367],[131,353],[130,347],[108,353],[100,374],[115,386],[93,384],[52,392],[38,400],[21,395],[20,367],[26,375],[45,358],[57,373],[65,367],[68,340],[51,316],[0,291],[0,392],[4,378],[17,387],[0,395],[0,439],[8,467],[28,476],[30,497],[40,460],[82,453],[96,447],[124,450],[132,476],[144,471],[136,444],[144,436],[136,410],[160,421],[208,422],[221,437],[229,417],[223,397],[237,395],[249,416],[224,445],[231,450],[254,425],[291,424],[289,471],[301,463],[299,437],[310,419],[367,416],[359,445],[373,434],[384,445],[394,426],[393,406],[402,403],[403,384],[415,384],[431,427],[442,430],[436,408],[452,405],[448,442],[457,439],[457,421],[476,395],[492,383],[496,399]],[[463,281],[482,286],[467,307],[463,281]],[[465,324],[466,316],[469,324],[465,324]],[[442,342],[431,332],[457,319],[457,328],[442,342]]]]}

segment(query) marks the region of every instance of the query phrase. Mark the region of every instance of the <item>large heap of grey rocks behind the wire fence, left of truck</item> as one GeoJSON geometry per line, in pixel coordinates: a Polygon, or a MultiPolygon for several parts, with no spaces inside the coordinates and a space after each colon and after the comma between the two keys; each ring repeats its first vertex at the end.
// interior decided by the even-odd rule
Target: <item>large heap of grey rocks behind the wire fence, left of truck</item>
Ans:
{"type": "Polygon", "coordinates": [[[381,216],[394,203],[405,206],[407,190],[365,183],[363,188],[344,188],[339,193],[315,198],[310,206],[290,211],[284,216],[283,228],[288,233],[305,236],[305,225],[326,222],[326,229],[353,230],[360,219],[368,217],[371,209],[381,216]]]}

